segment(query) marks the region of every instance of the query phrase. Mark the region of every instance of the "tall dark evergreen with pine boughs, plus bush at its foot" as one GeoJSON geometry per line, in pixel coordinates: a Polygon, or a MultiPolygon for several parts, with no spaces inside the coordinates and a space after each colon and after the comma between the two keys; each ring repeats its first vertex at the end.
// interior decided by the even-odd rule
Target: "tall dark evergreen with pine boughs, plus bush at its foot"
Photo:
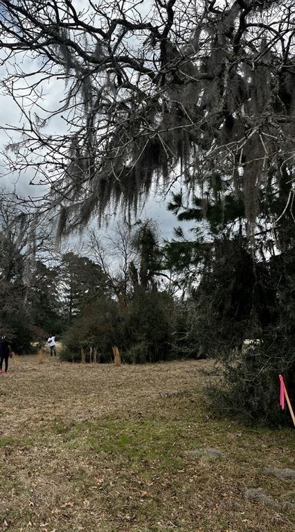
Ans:
{"type": "Polygon", "coordinates": [[[279,373],[294,400],[292,212],[280,216],[283,191],[280,196],[261,187],[258,230],[249,239],[243,204],[231,194],[224,198],[221,206],[212,180],[205,208],[197,195],[191,206],[175,195],[170,210],[196,226],[190,240],[177,230],[166,256],[170,268],[186,273],[199,352],[222,361],[224,384],[213,394],[215,409],[278,423],[279,373]],[[243,346],[247,338],[258,343],[243,346]]]}

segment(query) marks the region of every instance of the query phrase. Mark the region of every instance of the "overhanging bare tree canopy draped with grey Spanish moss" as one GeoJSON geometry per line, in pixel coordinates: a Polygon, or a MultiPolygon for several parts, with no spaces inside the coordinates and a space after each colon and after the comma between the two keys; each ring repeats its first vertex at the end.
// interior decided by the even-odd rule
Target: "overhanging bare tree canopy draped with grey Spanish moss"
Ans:
{"type": "Polygon", "coordinates": [[[251,232],[261,188],[279,195],[283,180],[284,209],[294,200],[294,3],[144,4],[0,1],[3,84],[24,121],[10,168],[49,186],[60,233],[179,174],[204,203],[209,177],[221,198],[230,183],[251,232]],[[44,108],[57,79],[64,96],[44,108]]]}

